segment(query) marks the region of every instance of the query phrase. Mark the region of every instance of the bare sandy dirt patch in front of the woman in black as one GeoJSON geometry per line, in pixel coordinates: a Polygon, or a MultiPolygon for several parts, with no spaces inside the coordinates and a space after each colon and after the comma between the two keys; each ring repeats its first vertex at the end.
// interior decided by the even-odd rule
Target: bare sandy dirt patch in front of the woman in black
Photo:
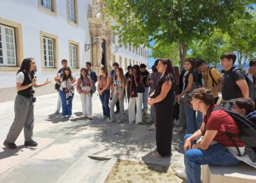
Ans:
{"type": "Polygon", "coordinates": [[[175,171],[181,168],[174,165],[152,165],[117,160],[105,183],[186,183],[175,175],[175,171]]]}

